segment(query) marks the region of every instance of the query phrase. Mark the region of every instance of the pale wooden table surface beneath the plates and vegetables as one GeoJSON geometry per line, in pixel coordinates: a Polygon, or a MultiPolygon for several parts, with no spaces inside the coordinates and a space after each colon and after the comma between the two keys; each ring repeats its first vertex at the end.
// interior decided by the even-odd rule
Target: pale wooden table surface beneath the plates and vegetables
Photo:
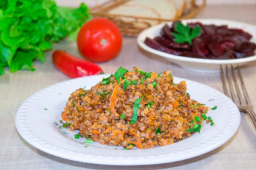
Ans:
{"type": "MultiPolygon", "coordinates": [[[[208,5],[197,18],[230,19],[256,25],[256,5],[208,5]]],[[[55,49],[65,49],[79,56],[76,44],[63,40],[46,52],[44,64],[34,62],[35,72],[11,74],[6,69],[5,75],[0,77],[0,169],[255,169],[256,130],[245,113],[241,113],[241,125],[228,142],[210,153],[174,163],[133,167],[94,165],[61,159],[34,148],[18,134],[15,114],[24,100],[36,91],[69,79],[53,65],[51,54],[55,49]]],[[[144,71],[158,73],[172,70],[175,77],[191,79],[222,91],[220,73],[196,73],[182,69],[141,50],[136,38],[123,37],[119,56],[99,65],[105,73],[114,73],[120,66],[129,70],[137,66],[144,71]]],[[[256,62],[244,65],[242,74],[256,107],[256,62]]]]}

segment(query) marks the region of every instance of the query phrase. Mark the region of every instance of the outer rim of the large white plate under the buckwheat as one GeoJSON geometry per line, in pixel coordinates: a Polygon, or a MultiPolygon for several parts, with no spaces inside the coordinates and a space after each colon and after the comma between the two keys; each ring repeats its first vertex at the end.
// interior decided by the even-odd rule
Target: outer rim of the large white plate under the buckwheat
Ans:
{"type": "MultiPolygon", "coordinates": [[[[226,137],[226,140],[222,140],[221,142],[217,142],[214,145],[212,144],[211,146],[205,147],[203,151],[201,151],[200,153],[192,154],[192,155],[184,155],[183,157],[179,157],[177,159],[172,159],[172,161],[170,161],[170,159],[167,159],[166,157],[162,157],[163,155],[158,155],[158,157],[162,157],[161,161],[153,161],[152,158],[149,161],[138,161],[138,162],[131,162],[133,159],[129,158],[129,160],[124,160],[122,158],[118,158],[118,157],[108,157],[108,159],[104,158],[105,161],[103,162],[98,162],[98,159],[94,158],[90,158],[91,155],[86,155],[87,157],[83,157],[84,159],[80,158],[77,159],[77,157],[67,157],[67,155],[63,156],[63,153],[61,152],[57,152],[56,151],[51,151],[49,148],[47,149],[42,147],[40,144],[38,144],[38,142],[34,142],[34,140],[31,140],[30,137],[25,134],[24,131],[22,131],[22,125],[20,124],[20,116],[19,114],[21,113],[22,109],[24,109],[24,106],[26,106],[27,101],[29,101],[30,99],[33,99],[36,95],[46,91],[49,88],[53,88],[53,87],[59,87],[60,85],[63,85],[65,83],[74,83],[76,81],[79,80],[83,80],[83,79],[94,79],[94,77],[107,77],[110,74],[106,74],[106,75],[94,75],[94,76],[89,76],[89,77],[81,77],[81,78],[77,78],[77,79],[71,79],[71,80],[67,80],[67,81],[62,81],[60,83],[55,83],[54,85],[51,85],[49,87],[46,87],[44,89],[41,89],[40,91],[37,91],[36,93],[34,93],[33,95],[31,95],[30,97],[28,97],[24,103],[22,103],[22,105],[20,105],[20,108],[18,109],[16,115],[15,115],[15,126],[16,129],[18,130],[20,136],[22,136],[22,138],[24,138],[24,140],[26,140],[26,142],[28,142],[29,144],[31,144],[32,146],[34,146],[35,148],[38,148],[40,151],[43,151],[44,153],[48,153],[50,155],[55,155],[57,157],[61,157],[63,159],[69,159],[72,161],[79,161],[79,162],[84,162],[84,163],[94,163],[94,164],[99,164],[99,165],[156,165],[156,164],[161,164],[161,163],[171,163],[171,162],[176,162],[176,161],[182,161],[185,159],[190,159],[192,157],[198,157],[199,155],[203,155],[205,153],[208,153],[210,151],[213,151],[214,149],[218,148],[219,146],[221,146],[222,144],[224,144],[225,142],[227,142],[228,140],[230,140],[230,138],[232,138],[232,136],[236,133],[236,131],[238,130],[238,127],[240,126],[240,122],[241,122],[241,117],[240,117],[240,112],[238,111],[238,108],[234,108],[234,114],[236,114],[236,126],[235,128],[232,130],[231,133],[229,133],[226,137]],[[117,159],[121,159],[123,162],[117,161],[117,159]]],[[[179,78],[179,77],[174,77],[175,79],[181,79],[184,81],[191,81],[189,79],[183,79],[183,78],[179,78]]],[[[191,83],[196,83],[199,85],[203,85],[202,83],[198,83],[196,81],[191,81],[191,83]]],[[[207,85],[203,85],[204,87],[207,87],[211,90],[217,91],[216,89],[209,87],[207,85]]],[[[220,91],[218,91],[218,93],[221,93],[220,91]]],[[[222,97],[226,97],[226,95],[222,94],[222,97]]],[[[228,99],[229,102],[231,102],[230,104],[234,105],[234,103],[232,103],[232,101],[226,97],[226,99],[228,99]]],[[[24,130],[24,129],[23,129],[24,130]]],[[[83,155],[84,156],[84,155],[83,155]]],[[[93,155],[94,156],[94,155],[93,155]]],[[[95,157],[95,156],[94,156],[95,157]]],[[[98,158],[101,158],[101,156],[99,156],[98,158]]],[[[155,158],[154,158],[155,159],[155,158]]]]}

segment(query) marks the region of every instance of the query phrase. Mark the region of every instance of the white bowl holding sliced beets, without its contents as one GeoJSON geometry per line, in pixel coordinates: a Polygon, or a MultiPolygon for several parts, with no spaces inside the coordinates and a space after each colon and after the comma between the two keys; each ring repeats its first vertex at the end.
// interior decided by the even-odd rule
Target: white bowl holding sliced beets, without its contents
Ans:
{"type": "MultiPolygon", "coordinates": [[[[245,30],[245,32],[249,32],[253,38],[250,40],[251,42],[256,43],[256,26],[245,24],[241,22],[232,22],[228,20],[222,19],[186,19],[182,20],[183,24],[187,24],[188,22],[201,22],[202,24],[215,24],[216,26],[227,25],[228,28],[241,28],[245,30]]],[[[170,26],[172,22],[167,23],[170,26]]],[[[155,38],[156,36],[160,36],[160,30],[164,26],[164,24],[159,24],[157,26],[152,26],[146,30],[143,30],[137,37],[137,43],[144,50],[156,54],[158,56],[164,57],[171,62],[174,62],[185,69],[189,69],[192,71],[205,71],[205,72],[220,72],[220,65],[244,65],[247,62],[251,62],[256,60],[256,55],[245,57],[245,58],[237,58],[230,60],[212,60],[212,59],[202,59],[202,58],[191,58],[187,56],[176,56],[172,54],[168,54],[166,52],[161,52],[150,48],[144,43],[146,37],[155,38]]]]}

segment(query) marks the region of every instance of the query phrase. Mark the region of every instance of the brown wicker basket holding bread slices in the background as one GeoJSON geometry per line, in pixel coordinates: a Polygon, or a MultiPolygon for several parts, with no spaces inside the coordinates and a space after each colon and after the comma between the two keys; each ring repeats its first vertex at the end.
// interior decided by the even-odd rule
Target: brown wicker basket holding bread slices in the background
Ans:
{"type": "Polygon", "coordinates": [[[186,5],[185,9],[182,12],[182,15],[180,17],[174,18],[174,19],[161,19],[161,18],[153,18],[153,17],[137,17],[134,15],[114,15],[108,13],[111,9],[114,9],[115,7],[118,7],[119,5],[123,5],[124,3],[127,3],[129,0],[112,0],[112,1],[106,1],[105,3],[102,3],[101,5],[98,5],[96,7],[92,7],[90,9],[90,13],[93,17],[106,17],[119,27],[122,34],[125,36],[137,36],[139,32],[142,30],[152,26],[152,20],[157,21],[156,24],[160,24],[162,22],[171,22],[174,20],[180,20],[180,19],[189,19],[192,17],[195,17],[201,9],[205,6],[206,0],[202,0],[201,4],[198,5],[196,0],[190,0],[189,5],[186,5]],[[189,6],[189,7],[188,7],[189,6]],[[129,18],[129,22],[124,21],[124,17],[129,18]]]}

